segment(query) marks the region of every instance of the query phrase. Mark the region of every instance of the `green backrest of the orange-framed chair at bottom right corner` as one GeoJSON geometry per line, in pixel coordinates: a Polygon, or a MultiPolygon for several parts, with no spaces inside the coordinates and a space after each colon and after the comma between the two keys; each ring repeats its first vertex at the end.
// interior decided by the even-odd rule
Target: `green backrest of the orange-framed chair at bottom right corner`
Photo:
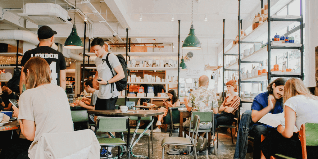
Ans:
{"type": "Polygon", "coordinates": [[[305,124],[306,145],[318,146],[318,123],[307,122],[305,124]]]}

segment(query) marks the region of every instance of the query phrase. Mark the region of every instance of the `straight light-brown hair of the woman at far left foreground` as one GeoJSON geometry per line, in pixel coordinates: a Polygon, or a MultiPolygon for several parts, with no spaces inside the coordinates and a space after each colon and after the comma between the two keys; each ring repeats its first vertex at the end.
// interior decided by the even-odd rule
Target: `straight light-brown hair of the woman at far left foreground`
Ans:
{"type": "Polygon", "coordinates": [[[24,65],[25,88],[31,89],[42,84],[51,83],[51,69],[45,59],[40,57],[30,58],[24,65]],[[27,73],[29,70],[29,74],[27,73]]]}

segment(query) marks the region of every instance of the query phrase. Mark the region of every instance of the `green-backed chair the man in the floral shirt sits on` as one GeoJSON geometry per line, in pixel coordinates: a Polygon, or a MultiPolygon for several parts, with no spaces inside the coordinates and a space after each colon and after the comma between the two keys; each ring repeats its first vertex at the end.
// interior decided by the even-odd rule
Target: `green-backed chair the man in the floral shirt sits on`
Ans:
{"type": "MultiPolygon", "coordinates": [[[[192,111],[191,112],[191,122],[190,122],[190,128],[191,124],[192,124],[192,117],[194,115],[198,115],[200,117],[200,122],[212,122],[212,128],[213,128],[213,124],[214,124],[214,113],[213,111],[211,112],[196,112],[196,111],[192,111]]],[[[189,131],[189,128],[184,128],[184,130],[189,131]]],[[[189,131],[190,132],[190,131],[189,131]]],[[[214,133],[213,131],[211,131],[211,129],[199,129],[198,132],[206,132],[205,136],[208,139],[208,147],[210,147],[211,145],[211,132],[212,132],[212,136],[213,136],[213,142],[214,142],[214,133]]],[[[215,151],[215,146],[213,146],[214,149],[214,155],[216,155],[216,151],[215,151]]],[[[208,150],[206,150],[206,157],[208,158],[208,150]]]]}

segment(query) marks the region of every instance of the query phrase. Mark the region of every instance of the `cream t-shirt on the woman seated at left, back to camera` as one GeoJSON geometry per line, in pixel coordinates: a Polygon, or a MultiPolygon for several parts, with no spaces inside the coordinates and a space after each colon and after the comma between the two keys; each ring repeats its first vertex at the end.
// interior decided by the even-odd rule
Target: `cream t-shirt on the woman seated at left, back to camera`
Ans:
{"type": "Polygon", "coordinates": [[[73,131],[71,109],[62,87],[45,84],[24,91],[19,98],[18,119],[35,122],[35,136],[29,147],[34,158],[38,140],[44,133],[73,131]]]}

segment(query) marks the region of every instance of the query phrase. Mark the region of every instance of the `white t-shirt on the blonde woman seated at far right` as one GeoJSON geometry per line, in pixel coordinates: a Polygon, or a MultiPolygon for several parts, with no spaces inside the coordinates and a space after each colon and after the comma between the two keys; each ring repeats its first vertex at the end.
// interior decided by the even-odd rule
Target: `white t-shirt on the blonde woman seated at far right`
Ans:
{"type": "Polygon", "coordinates": [[[318,122],[318,100],[310,99],[304,95],[296,95],[289,98],[284,105],[296,112],[295,125],[298,130],[306,122],[318,122]]]}

